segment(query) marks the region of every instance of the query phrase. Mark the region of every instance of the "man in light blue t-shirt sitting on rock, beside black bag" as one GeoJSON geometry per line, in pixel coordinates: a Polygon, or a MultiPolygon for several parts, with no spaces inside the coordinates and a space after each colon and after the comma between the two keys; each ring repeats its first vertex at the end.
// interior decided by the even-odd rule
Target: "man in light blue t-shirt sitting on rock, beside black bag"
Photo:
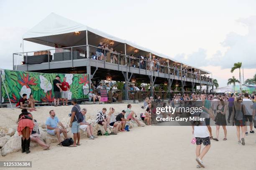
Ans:
{"type": "Polygon", "coordinates": [[[58,117],[55,116],[54,110],[50,110],[49,114],[50,114],[50,117],[48,117],[46,122],[45,122],[47,133],[50,134],[50,135],[55,135],[56,134],[59,143],[61,143],[60,134],[63,133],[64,140],[67,139],[67,129],[59,121],[58,117]],[[60,125],[62,128],[61,129],[58,128],[58,125],[60,125]]]}

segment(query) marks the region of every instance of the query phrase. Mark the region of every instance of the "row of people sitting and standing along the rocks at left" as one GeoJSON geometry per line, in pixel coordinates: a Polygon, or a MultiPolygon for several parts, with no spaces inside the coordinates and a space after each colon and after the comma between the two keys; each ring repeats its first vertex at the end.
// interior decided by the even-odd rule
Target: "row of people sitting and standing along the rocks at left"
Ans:
{"type": "MultiPolygon", "coordinates": [[[[86,113],[87,109],[81,107],[77,104],[77,99],[72,99],[72,110],[69,114],[70,116],[70,124],[71,132],[73,133],[74,143],[69,145],[69,147],[77,147],[81,145],[80,143],[80,130],[87,132],[87,137],[91,140],[97,138],[93,134],[94,127],[92,123],[86,121],[86,113]]],[[[132,105],[128,104],[125,110],[122,110],[118,115],[114,115],[115,109],[110,107],[108,113],[107,109],[104,107],[101,111],[97,113],[96,123],[102,126],[103,135],[117,135],[119,132],[130,131],[129,125],[131,122],[137,123],[138,126],[143,127],[145,124],[142,122],[143,120],[148,122],[147,125],[151,125],[151,111],[150,108],[141,114],[141,119],[138,118],[136,113],[132,110],[132,105]],[[143,117],[143,118],[142,118],[143,117]],[[110,130],[112,129],[112,130],[110,130]],[[108,133],[109,130],[111,133],[108,133]]],[[[33,119],[33,115],[31,112],[28,112],[26,108],[21,110],[20,115],[18,116],[18,134],[22,135],[21,138],[21,148],[22,153],[30,153],[30,141],[38,143],[44,150],[49,150],[50,145],[47,145],[39,138],[39,128],[38,123],[35,119],[33,119]]],[[[46,122],[46,132],[49,135],[56,136],[59,145],[62,145],[61,134],[63,133],[64,140],[68,139],[67,135],[67,127],[65,127],[56,116],[54,110],[49,111],[49,117],[47,117],[46,122]]],[[[102,135],[101,130],[98,130],[97,135],[102,135]]]]}

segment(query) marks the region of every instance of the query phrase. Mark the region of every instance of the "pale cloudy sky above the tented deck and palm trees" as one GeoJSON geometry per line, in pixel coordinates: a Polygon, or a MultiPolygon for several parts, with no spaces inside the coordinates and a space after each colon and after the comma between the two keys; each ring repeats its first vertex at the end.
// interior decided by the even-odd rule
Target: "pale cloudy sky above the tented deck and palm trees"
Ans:
{"type": "MultiPolygon", "coordinates": [[[[12,69],[22,36],[50,13],[212,72],[220,87],[256,73],[255,0],[0,0],[0,68],[12,69]]],[[[24,41],[24,51],[44,50],[24,41]]]]}

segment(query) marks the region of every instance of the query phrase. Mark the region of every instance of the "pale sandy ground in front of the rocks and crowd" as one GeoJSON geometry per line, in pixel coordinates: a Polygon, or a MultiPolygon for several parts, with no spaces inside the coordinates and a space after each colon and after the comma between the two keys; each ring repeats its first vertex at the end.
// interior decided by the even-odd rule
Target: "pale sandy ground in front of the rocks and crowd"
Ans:
{"type": "MultiPolygon", "coordinates": [[[[121,109],[125,104],[112,105],[121,109]]],[[[92,105],[86,105],[88,111],[92,105]]],[[[110,105],[94,105],[107,107],[110,105]]],[[[134,105],[134,110],[140,110],[140,105],[134,105]]],[[[40,107],[38,118],[45,119],[47,110],[52,107],[40,107]],[[45,112],[45,113],[43,113],[45,112]]],[[[55,107],[58,117],[66,116],[68,107],[55,107]],[[66,110],[66,111],[65,111],[66,110]]],[[[16,120],[13,112],[3,121],[0,112],[0,125],[16,120]]],[[[90,111],[89,111],[90,112],[90,111]]],[[[212,127],[215,134],[215,127],[212,127]]],[[[227,127],[228,140],[219,142],[211,140],[212,147],[203,159],[207,170],[255,170],[256,169],[256,134],[246,136],[246,145],[237,144],[236,128],[227,127]]],[[[223,130],[220,129],[220,139],[223,130]]],[[[32,161],[32,168],[40,170],[193,170],[195,161],[195,147],[190,143],[192,139],[191,127],[181,126],[146,126],[135,127],[130,132],[118,135],[100,136],[96,140],[83,138],[82,145],[76,148],[57,147],[51,145],[51,150],[42,150],[40,147],[31,148],[30,154],[21,152],[10,153],[0,157],[0,161],[32,161]]],[[[1,168],[3,169],[3,168],[1,168]]],[[[15,169],[15,168],[12,168],[15,169]]],[[[17,168],[19,169],[19,168],[17,168]]]]}

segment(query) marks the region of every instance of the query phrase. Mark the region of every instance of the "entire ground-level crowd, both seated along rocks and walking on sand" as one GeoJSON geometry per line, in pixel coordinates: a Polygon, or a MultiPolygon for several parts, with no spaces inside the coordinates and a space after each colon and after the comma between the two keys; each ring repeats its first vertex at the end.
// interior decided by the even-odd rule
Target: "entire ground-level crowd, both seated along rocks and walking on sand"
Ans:
{"type": "MultiPolygon", "coordinates": [[[[102,86],[102,85],[100,85],[102,86]]],[[[91,92],[91,90],[90,90],[91,92]]],[[[97,97],[97,96],[96,96],[97,97]]],[[[92,97],[92,100],[96,99],[92,97]]],[[[26,97],[24,96],[23,99],[26,97]]],[[[98,98],[100,99],[100,98],[98,98]]],[[[33,100],[33,99],[32,99],[33,100]]],[[[31,100],[31,101],[32,101],[31,100]]],[[[222,127],[224,136],[223,141],[228,140],[227,125],[236,126],[236,136],[237,143],[245,145],[246,135],[254,134],[254,128],[256,128],[256,94],[249,95],[244,94],[205,94],[205,93],[192,93],[192,94],[174,94],[173,97],[168,102],[163,102],[160,96],[146,97],[142,108],[144,111],[139,114],[132,110],[132,105],[128,104],[125,110],[122,110],[118,115],[115,116],[115,108],[110,107],[107,110],[105,107],[97,112],[96,123],[102,126],[102,130],[98,130],[97,135],[117,135],[119,132],[130,131],[129,124],[135,122],[138,126],[151,125],[154,121],[152,114],[155,114],[154,107],[165,107],[169,105],[171,107],[186,107],[192,105],[193,101],[200,101],[202,112],[199,114],[192,115],[191,113],[177,112],[176,115],[172,115],[168,112],[162,112],[161,117],[171,117],[175,116],[197,116],[204,117],[204,121],[194,121],[192,123],[192,134],[194,139],[192,143],[196,143],[196,161],[198,163],[197,168],[205,167],[202,159],[205,154],[210,150],[211,140],[216,142],[220,141],[220,127],[222,127]],[[155,105],[156,103],[156,105],[155,105]],[[151,111],[152,110],[152,111],[151,111]],[[145,122],[145,124],[143,123],[145,122]],[[212,130],[212,125],[210,122],[215,124],[215,137],[212,130]],[[109,133],[109,129],[111,133],[109,133]],[[102,132],[103,131],[103,132],[102,132]],[[201,145],[205,145],[205,148],[201,151],[201,145]]],[[[76,99],[72,99],[72,110],[70,114],[70,125],[71,131],[73,133],[74,143],[69,147],[77,147],[81,145],[80,143],[80,130],[87,131],[87,136],[89,139],[94,140],[97,138],[93,134],[94,128],[91,123],[86,122],[87,109],[81,109],[77,104],[76,99]]],[[[23,106],[21,103],[20,106],[23,106]]],[[[189,106],[190,107],[190,106],[189,106]]],[[[49,117],[46,120],[46,129],[49,135],[56,135],[60,145],[61,137],[60,134],[63,133],[64,140],[67,139],[67,129],[59,121],[54,110],[50,110],[49,117]]],[[[49,145],[46,145],[44,141],[38,138],[39,130],[36,120],[26,108],[22,109],[22,113],[18,117],[18,133],[22,135],[21,148],[22,152],[30,153],[29,145],[30,141],[35,141],[41,145],[44,150],[49,149],[49,145]]]]}

